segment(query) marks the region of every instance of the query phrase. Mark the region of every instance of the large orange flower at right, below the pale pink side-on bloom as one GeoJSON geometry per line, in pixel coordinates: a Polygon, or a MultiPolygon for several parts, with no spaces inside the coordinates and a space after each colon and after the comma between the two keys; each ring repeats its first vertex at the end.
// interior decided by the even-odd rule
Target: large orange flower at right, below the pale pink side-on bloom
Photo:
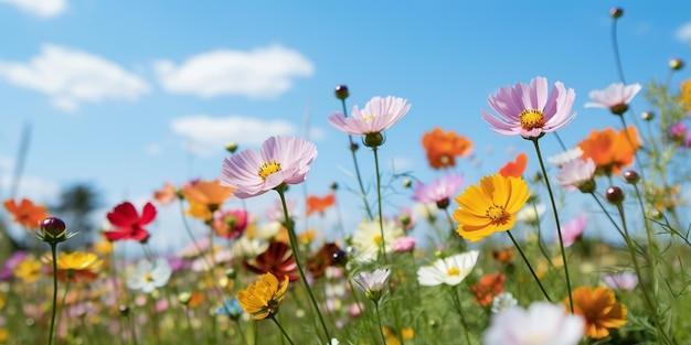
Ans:
{"type": "Polygon", "coordinates": [[[592,159],[597,170],[596,173],[606,175],[620,173],[621,168],[634,163],[634,153],[640,143],[636,128],[629,126],[626,130],[615,132],[607,128],[603,131],[591,131],[591,136],[578,143],[584,161],[592,159]]]}

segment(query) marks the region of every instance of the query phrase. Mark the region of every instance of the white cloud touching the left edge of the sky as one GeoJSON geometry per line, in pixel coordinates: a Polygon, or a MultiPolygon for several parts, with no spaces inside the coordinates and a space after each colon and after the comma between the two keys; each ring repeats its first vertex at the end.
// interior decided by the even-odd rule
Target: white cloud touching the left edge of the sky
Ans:
{"type": "Polygon", "coordinates": [[[117,64],[86,52],[45,44],[26,63],[0,62],[0,77],[51,97],[53,105],[72,111],[83,101],[135,100],[149,85],[117,64]]]}

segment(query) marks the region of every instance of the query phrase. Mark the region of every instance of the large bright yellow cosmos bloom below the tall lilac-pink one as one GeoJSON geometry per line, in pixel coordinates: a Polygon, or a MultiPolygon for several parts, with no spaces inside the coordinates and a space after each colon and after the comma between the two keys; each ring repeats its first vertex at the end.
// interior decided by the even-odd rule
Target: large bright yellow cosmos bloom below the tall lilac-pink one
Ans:
{"type": "Polygon", "coordinates": [[[454,212],[458,222],[456,231],[477,241],[497,231],[509,230],[530,195],[523,179],[501,174],[485,176],[479,185],[469,186],[456,198],[460,206],[454,212]]]}

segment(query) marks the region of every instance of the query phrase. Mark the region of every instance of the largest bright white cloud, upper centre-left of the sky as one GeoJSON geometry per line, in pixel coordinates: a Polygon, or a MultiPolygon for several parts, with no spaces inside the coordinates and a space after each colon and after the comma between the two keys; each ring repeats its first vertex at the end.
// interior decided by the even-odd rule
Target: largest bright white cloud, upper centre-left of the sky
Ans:
{"type": "Polygon", "coordinates": [[[179,66],[158,61],[153,67],[167,91],[204,98],[272,98],[290,89],[293,78],[309,77],[315,72],[312,63],[299,52],[280,45],[251,52],[217,50],[194,55],[179,66]]]}

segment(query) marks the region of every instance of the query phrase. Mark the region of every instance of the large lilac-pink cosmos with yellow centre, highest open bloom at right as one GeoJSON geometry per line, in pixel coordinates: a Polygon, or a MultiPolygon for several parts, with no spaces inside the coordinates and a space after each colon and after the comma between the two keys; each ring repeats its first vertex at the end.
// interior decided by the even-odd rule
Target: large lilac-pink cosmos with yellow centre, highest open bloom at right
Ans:
{"type": "Polygon", "coordinates": [[[500,134],[540,138],[565,127],[576,117],[575,112],[568,115],[575,98],[574,89],[566,90],[561,82],[554,83],[548,96],[548,79],[535,77],[530,85],[517,83],[490,96],[487,101],[499,116],[482,109],[482,119],[500,134]]]}

